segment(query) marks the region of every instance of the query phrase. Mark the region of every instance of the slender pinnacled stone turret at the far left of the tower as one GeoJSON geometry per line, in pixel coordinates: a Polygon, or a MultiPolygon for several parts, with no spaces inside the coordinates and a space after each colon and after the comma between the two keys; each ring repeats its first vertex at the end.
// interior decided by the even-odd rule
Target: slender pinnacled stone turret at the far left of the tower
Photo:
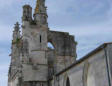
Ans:
{"type": "Polygon", "coordinates": [[[12,79],[14,78],[15,74],[17,74],[17,71],[20,72],[20,47],[18,46],[20,44],[20,27],[19,23],[17,22],[14,26],[13,31],[13,39],[12,39],[12,46],[11,46],[11,64],[9,68],[9,74],[8,74],[8,81],[9,86],[11,85],[12,79]]]}

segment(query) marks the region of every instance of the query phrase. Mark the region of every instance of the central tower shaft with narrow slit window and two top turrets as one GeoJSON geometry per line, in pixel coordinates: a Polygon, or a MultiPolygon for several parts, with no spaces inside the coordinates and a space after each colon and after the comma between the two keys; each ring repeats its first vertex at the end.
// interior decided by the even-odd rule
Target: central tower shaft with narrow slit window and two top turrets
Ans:
{"type": "Polygon", "coordinates": [[[34,19],[32,8],[23,6],[22,74],[24,86],[47,86],[47,13],[45,0],[37,0],[34,19]]]}

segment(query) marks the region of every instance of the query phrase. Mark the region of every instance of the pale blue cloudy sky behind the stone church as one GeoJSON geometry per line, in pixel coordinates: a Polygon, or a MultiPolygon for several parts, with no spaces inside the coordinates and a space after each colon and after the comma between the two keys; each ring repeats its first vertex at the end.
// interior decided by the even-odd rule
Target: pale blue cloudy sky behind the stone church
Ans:
{"type": "MultiPolygon", "coordinates": [[[[22,6],[36,0],[0,0],[0,86],[7,86],[12,31],[21,23],[22,6]]],[[[51,30],[69,32],[78,42],[78,58],[112,41],[112,0],[47,0],[51,30]]]]}

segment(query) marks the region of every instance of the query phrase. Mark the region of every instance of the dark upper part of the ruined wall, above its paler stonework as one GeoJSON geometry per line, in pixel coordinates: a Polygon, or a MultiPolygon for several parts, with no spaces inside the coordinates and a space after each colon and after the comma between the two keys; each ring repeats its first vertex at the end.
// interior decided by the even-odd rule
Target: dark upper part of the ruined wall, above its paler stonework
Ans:
{"type": "Polygon", "coordinates": [[[51,42],[58,56],[72,56],[76,58],[76,41],[67,32],[49,31],[48,41],[51,42]]]}

